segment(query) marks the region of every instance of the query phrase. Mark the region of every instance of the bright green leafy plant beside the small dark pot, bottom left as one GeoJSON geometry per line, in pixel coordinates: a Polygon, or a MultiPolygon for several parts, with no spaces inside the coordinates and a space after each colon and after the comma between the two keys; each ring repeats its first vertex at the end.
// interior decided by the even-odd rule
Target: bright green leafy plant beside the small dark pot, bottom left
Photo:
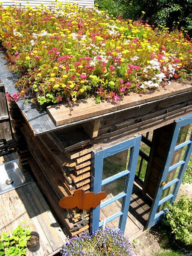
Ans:
{"type": "Polygon", "coordinates": [[[0,236],[0,256],[23,256],[26,255],[26,245],[31,231],[17,226],[12,235],[2,232],[0,236]]]}

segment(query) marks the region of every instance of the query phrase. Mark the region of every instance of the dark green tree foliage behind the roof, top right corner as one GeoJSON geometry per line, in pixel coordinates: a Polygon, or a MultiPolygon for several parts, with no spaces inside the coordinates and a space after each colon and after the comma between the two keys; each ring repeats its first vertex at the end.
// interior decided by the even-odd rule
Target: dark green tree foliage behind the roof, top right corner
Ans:
{"type": "Polygon", "coordinates": [[[99,8],[117,17],[148,20],[149,24],[186,29],[192,35],[192,0],[96,0],[99,8]],[[115,8],[113,8],[113,6],[115,8]],[[141,16],[142,12],[145,15],[141,16]]]}

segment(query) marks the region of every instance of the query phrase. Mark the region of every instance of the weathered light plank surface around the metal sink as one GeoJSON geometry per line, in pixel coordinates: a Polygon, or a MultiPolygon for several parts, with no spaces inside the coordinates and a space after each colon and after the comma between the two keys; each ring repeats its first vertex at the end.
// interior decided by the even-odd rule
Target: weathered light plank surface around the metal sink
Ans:
{"type": "MultiPolygon", "coordinates": [[[[0,158],[0,163],[13,160],[12,154],[0,158]]],[[[47,202],[35,182],[0,195],[0,233],[11,232],[18,225],[28,225],[30,230],[37,231],[40,236],[40,249],[27,256],[54,255],[66,241],[47,202]],[[25,221],[26,224],[22,224],[25,221]]]]}

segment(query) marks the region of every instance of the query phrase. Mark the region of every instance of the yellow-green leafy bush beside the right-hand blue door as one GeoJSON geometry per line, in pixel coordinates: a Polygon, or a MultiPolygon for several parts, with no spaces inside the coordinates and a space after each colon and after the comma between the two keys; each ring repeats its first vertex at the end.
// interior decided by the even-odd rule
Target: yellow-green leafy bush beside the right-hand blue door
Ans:
{"type": "Polygon", "coordinates": [[[166,222],[174,235],[175,245],[186,253],[192,253],[192,198],[183,195],[169,205],[166,222]]]}

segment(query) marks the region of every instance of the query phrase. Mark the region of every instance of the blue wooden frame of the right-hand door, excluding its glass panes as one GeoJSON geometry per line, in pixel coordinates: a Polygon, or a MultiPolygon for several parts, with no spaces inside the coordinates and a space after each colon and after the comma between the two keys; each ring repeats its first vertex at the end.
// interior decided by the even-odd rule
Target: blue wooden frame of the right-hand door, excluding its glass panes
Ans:
{"type": "Polygon", "coordinates": [[[162,203],[165,203],[168,200],[170,200],[170,203],[173,203],[177,196],[177,192],[178,192],[180,184],[182,182],[186,166],[189,162],[189,158],[192,153],[192,134],[188,141],[183,142],[182,144],[179,144],[177,146],[176,146],[176,143],[177,143],[177,138],[178,138],[178,135],[180,132],[180,128],[187,124],[191,124],[191,123],[192,123],[192,114],[175,120],[175,129],[174,129],[173,138],[172,138],[172,141],[171,141],[171,144],[169,147],[169,154],[166,159],[165,167],[162,172],[162,177],[160,179],[160,183],[159,183],[159,187],[157,189],[156,196],[154,197],[153,204],[151,206],[151,212],[150,212],[150,216],[148,218],[147,228],[154,226],[160,220],[160,218],[164,215],[165,211],[167,210],[167,209],[164,209],[163,211],[156,214],[158,206],[160,206],[162,203]],[[187,146],[184,159],[180,162],[177,162],[175,165],[170,166],[175,150],[178,150],[184,146],[187,146]],[[181,168],[180,168],[177,179],[173,179],[171,182],[167,183],[165,186],[162,186],[161,184],[163,181],[166,181],[169,171],[172,171],[173,169],[175,169],[179,166],[181,168]],[[160,200],[163,190],[165,190],[166,188],[169,188],[173,184],[175,184],[175,188],[172,191],[172,193],[169,194],[168,196],[166,196],[165,198],[163,198],[162,200],[160,200]]]}

